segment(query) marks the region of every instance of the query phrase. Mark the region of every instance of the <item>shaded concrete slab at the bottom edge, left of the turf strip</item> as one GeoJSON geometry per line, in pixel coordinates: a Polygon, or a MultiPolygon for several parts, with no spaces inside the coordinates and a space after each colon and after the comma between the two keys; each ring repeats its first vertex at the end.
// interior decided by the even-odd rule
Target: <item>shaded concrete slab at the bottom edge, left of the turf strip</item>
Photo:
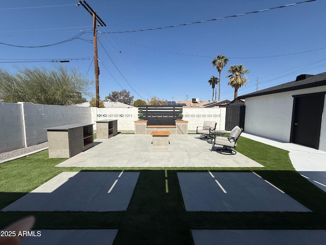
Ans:
{"type": "Polygon", "coordinates": [[[25,237],[21,245],[110,245],[118,230],[35,230],[35,236],[25,237]],[[38,234],[40,236],[38,236],[38,234]]]}

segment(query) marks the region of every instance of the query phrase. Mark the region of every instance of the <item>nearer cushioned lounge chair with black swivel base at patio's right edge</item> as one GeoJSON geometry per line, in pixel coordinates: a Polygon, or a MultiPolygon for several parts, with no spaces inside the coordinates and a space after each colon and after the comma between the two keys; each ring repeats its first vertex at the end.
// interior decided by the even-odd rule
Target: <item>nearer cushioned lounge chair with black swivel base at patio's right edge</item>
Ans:
{"type": "Polygon", "coordinates": [[[242,131],[243,130],[240,129],[238,126],[235,126],[231,130],[229,137],[216,136],[216,138],[214,139],[213,147],[215,144],[222,145],[223,147],[218,148],[215,151],[221,154],[236,154],[236,151],[234,151],[232,148],[235,149],[236,141],[238,140],[242,131]]]}

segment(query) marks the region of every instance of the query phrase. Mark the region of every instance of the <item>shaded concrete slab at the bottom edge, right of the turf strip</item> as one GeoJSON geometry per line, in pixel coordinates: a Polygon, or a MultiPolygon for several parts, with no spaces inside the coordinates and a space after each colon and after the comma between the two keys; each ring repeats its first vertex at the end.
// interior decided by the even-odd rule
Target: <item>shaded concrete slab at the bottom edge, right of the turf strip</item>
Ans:
{"type": "Polygon", "coordinates": [[[195,245],[323,245],[326,230],[192,230],[195,245]]]}

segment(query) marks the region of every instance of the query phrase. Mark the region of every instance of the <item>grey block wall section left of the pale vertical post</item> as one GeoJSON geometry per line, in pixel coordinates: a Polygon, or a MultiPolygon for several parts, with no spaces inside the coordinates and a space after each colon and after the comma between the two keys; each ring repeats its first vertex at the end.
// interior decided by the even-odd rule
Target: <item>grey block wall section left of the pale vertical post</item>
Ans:
{"type": "Polygon", "coordinates": [[[25,147],[21,105],[0,103],[0,153],[25,147]]]}

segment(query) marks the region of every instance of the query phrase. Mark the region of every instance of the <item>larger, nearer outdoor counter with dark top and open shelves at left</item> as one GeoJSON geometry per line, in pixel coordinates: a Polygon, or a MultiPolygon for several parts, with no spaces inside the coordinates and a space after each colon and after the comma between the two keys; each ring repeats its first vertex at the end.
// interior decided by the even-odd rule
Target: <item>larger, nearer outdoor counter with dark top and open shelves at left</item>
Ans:
{"type": "Polygon", "coordinates": [[[94,143],[93,124],[71,124],[46,130],[49,158],[70,158],[94,143]]]}

